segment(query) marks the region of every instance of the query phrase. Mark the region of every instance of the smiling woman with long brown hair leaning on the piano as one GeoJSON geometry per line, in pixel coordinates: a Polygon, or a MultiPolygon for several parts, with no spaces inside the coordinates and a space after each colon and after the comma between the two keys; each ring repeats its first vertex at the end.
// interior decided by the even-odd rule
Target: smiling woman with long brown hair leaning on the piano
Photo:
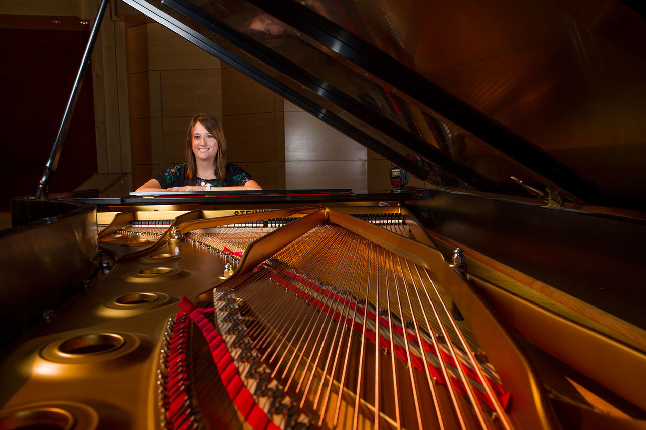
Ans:
{"type": "Polygon", "coordinates": [[[186,163],[171,165],[137,191],[260,190],[240,167],[227,163],[227,143],[218,120],[209,114],[191,119],[186,132],[186,163]]]}

